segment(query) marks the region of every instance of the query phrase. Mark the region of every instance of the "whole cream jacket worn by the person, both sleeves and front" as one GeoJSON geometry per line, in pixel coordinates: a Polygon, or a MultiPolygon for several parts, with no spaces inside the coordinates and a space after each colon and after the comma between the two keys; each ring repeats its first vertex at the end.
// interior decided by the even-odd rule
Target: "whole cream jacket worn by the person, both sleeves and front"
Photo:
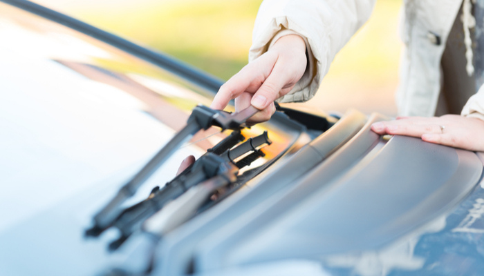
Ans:
{"type": "MultiPolygon", "coordinates": [[[[433,116],[440,93],[440,59],[463,0],[404,0],[404,42],[397,105],[400,115],[433,116]]],[[[309,67],[280,102],[307,101],[315,95],[336,53],[370,17],[375,0],[264,0],[255,21],[249,59],[279,37],[297,33],[306,41],[309,67]]],[[[462,115],[484,119],[484,88],[462,115]]]]}

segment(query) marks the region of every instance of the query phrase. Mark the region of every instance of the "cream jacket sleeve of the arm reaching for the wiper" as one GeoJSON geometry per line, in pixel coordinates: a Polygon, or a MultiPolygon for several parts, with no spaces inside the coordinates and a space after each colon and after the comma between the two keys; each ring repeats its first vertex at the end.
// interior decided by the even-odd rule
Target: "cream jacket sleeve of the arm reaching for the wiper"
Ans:
{"type": "Polygon", "coordinates": [[[337,52],[370,17],[373,6],[375,0],[264,0],[255,21],[249,61],[266,52],[273,40],[289,33],[301,35],[308,49],[308,68],[295,88],[278,101],[308,101],[337,52]]]}

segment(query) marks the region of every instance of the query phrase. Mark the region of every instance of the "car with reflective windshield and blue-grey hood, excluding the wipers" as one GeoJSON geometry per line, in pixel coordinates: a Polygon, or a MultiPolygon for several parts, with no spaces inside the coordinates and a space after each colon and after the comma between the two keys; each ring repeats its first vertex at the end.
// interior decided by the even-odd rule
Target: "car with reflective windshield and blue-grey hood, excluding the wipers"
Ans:
{"type": "MultiPolygon", "coordinates": [[[[483,156],[282,106],[265,156],[162,237],[93,215],[221,81],[28,1],[0,0],[1,275],[482,275],[483,156]]],[[[233,110],[233,109],[232,109],[233,110]]],[[[124,206],[229,132],[209,128],[124,206]]],[[[181,197],[180,197],[181,198],[181,197]]],[[[174,200],[176,203],[178,199],[174,200]]]]}

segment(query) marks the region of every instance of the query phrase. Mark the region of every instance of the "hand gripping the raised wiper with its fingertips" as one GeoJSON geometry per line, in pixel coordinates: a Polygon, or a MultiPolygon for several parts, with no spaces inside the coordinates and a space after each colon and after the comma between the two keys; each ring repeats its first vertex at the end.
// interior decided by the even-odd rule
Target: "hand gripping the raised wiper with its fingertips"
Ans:
{"type": "Polygon", "coordinates": [[[211,108],[222,110],[231,99],[235,109],[252,104],[260,111],[249,123],[267,121],[276,111],[274,100],[286,95],[306,70],[306,44],[297,34],[281,37],[268,52],[250,62],[218,90],[211,108]]]}

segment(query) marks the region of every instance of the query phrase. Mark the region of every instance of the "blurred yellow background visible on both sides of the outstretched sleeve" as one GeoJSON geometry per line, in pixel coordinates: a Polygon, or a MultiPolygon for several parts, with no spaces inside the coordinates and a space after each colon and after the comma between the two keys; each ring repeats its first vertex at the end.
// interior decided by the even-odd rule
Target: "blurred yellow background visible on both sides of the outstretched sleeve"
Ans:
{"type": "MultiPolygon", "coordinates": [[[[35,0],[228,79],[246,63],[261,0],[35,0]]],[[[398,12],[377,1],[371,19],[339,52],[308,106],[396,114],[398,12]]]]}

